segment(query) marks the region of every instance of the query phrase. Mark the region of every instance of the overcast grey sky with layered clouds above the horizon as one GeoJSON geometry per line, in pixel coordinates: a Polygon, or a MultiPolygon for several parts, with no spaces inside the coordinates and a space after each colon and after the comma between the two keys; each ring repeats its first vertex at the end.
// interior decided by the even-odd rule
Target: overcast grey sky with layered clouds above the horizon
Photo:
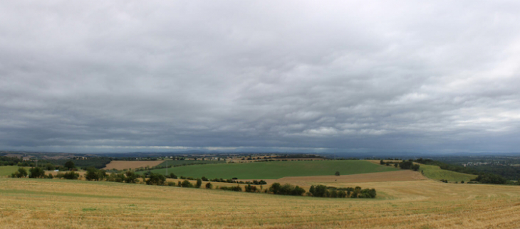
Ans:
{"type": "Polygon", "coordinates": [[[1,1],[0,150],[519,152],[519,1],[1,1]]]}

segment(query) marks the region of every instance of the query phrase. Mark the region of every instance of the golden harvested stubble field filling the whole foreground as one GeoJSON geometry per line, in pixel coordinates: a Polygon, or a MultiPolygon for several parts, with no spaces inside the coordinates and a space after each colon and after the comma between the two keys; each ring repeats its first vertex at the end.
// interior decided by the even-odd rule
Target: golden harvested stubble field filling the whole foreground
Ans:
{"type": "Polygon", "coordinates": [[[378,198],[311,198],[98,181],[0,179],[0,225],[1,228],[520,227],[519,186],[432,180],[339,184],[356,185],[376,188],[378,198]]]}

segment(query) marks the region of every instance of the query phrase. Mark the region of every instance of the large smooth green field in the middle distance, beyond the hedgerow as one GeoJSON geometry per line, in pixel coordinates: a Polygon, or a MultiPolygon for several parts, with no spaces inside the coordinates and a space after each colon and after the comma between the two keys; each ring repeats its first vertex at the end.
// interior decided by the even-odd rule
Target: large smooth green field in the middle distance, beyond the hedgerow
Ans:
{"type": "MultiPolygon", "coordinates": [[[[280,179],[285,176],[332,176],[336,171],[339,171],[340,175],[349,175],[396,170],[399,169],[358,160],[273,161],[180,166],[169,168],[167,174],[194,178],[206,176],[208,179],[280,179]]],[[[165,169],[152,169],[152,172],[166,173],[165,169]]]]}

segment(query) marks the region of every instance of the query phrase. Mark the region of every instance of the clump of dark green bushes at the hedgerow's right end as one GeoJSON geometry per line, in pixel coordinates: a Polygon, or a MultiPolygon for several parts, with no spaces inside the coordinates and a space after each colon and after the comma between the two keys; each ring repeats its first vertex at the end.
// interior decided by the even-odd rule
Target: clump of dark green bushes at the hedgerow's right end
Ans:
{"type": "Polygon", "coordinates": [[[361,189],[359,186],[355,188],[336,188],[318,185],[311,186],[308,192],[308,196],[331,198],[375,198],[377,195],[374,188],[361,189]]]}

